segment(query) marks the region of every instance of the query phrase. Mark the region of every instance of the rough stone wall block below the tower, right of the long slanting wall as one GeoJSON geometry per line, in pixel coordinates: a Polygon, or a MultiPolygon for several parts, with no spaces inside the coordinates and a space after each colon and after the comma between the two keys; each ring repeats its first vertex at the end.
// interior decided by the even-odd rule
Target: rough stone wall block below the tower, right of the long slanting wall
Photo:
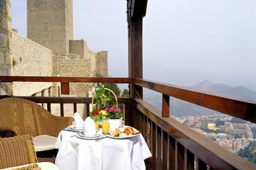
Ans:
{"type": "MultiPolygon", "coordinates": [[[[90,59],[71,59],[67,56],[53,56],[53,72],[61,77],[93,77],[90,59]],[[62,58],[62,59],[61,59],[62,58]]],[[[87,95],[92,83],[69,83],[70,95],[87,95]]]]}

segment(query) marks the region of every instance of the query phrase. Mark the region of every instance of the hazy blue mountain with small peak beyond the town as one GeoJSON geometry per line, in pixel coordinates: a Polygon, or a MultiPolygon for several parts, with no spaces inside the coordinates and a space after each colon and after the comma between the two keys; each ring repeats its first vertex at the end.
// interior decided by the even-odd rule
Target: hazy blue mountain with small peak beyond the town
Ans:
{"type": "MultiPolygon", "coordinates": [[[[228,94],[237,97],[245,97],[256,99],[256,92],[245,87],[231,87],[226,84],[214,84],[208,80],[204,80],[197,85],[189,86],[190,88],[201,89],[205,91],[213,91],[222,94],[228,94]]],[[[144,89],[143,91],[143,99],[148,103],[152,104],[157,109],[162,109],[162,94],[144,89]]],[[[170,115],[174,115],[177,117],[182,116],[196,116],[196,115],[204,115],[204,114],[220,114],[220,112],[213,111],[211,109],[207,109],[196,104],[191,104],[189,102],[185,102],[183,100],[177,98],[170,98],[170,115]]]]}

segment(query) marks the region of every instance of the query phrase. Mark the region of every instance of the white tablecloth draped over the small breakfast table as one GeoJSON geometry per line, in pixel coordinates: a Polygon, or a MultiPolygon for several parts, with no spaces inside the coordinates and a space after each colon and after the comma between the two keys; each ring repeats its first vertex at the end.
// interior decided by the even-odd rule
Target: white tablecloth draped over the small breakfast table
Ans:
{"type": "Polygon", "coordinates": [[[129,139],[108,137],[99,142],[71,135],[75,133],[61,131],[55,145],[59,149],[55,165],[60,170],[143,170],[144,159],[152,156],[141,134],[129,139]]]}

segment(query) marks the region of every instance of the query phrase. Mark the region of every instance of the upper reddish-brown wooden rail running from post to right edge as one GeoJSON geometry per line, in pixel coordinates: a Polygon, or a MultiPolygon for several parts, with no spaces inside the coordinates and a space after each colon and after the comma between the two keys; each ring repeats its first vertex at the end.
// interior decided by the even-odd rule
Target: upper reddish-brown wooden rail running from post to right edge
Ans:
{"type": "Polygon", "coordinates": [[[215,92],[206,92],[199,89],[175,86],[145,79],[134,78],[131,81],[138,86],[157,91],[164,95],[256,123],[256,100],[215,92]]]}

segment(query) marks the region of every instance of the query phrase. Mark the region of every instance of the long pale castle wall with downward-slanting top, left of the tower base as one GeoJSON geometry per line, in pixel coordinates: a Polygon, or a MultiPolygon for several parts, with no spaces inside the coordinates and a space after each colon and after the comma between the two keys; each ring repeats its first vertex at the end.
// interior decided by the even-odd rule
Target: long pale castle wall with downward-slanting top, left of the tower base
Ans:
{"type": "MultiPolygon", "coordinates": [[[[52,50],[12,32],[11,58],[12,75],[15,76],[52,76],[52,50]]],[[[52,82],[13,82],[13,95],[32,96],[47,92],[52,82]],[[45,92],[46,91],[46,92],[45,92]]],[[[50,90],[49,90],[50,91],[50,90]]]]}

